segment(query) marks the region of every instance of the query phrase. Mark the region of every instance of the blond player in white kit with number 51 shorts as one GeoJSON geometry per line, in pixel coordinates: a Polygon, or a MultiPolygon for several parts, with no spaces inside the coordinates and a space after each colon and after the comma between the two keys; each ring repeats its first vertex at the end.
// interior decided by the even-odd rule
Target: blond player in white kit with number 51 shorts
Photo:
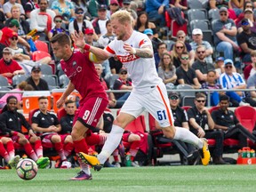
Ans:
{"type": "MultiPolygon", "coordinates": [[[[98,60],[107,60],[116,55],[123,62],[124,67],[128,69],[132,78],[133,89],[116,117],[112,131],[108,135],[100,154],[96,157],[81,152],[79,156],[84,159],[84,162],[92,165],[95,170],[100,171],[100,164],[104,164],[120,143],[125,126],[146,109],[156,118],[167,138],[182,140],[195,145],[201,151],[202,164],[209,164],[211,156],[207,140],[198,139],[187,129],[173,125],[174,121],[170,105],[168,105],[167,92],[163,81],[157,76],[153,48],[148,36],[132,29],[132,19],[130,13],[126,11],[113,13],[111,25],[116,39],[109,43],[105,50],[92,47],[82,41],[80,41],[79,46],[84,45],[84,49],[92,52],[98,60]]],[[[81,33],[75,34],[73,38],[75,40],[82,39],[83,35],[81,33]]]]}

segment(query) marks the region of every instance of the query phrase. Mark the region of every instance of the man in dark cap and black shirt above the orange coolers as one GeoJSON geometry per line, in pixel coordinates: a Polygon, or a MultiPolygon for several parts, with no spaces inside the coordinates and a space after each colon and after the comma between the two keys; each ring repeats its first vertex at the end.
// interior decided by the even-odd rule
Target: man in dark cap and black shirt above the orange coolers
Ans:
{"type": "Polygon", "coordinates": [[[31,84],[35,91],[48,91],[49,86],[47,82],[41,78],[41,68],[39,66],[34,66],[31,69],[31,76],[26,80],[28,84],[31,84]]]}

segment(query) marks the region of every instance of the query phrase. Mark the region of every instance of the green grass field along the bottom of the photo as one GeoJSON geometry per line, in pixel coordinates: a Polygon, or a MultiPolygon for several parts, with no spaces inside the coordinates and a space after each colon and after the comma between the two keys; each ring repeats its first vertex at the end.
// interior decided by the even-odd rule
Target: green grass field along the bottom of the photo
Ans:
{"type": "Polygon", "coordinates": [[[256,165],[156,166],[92,170],[93,180],[73,181],[78,169],[39,170],[21,180],[14,170],[0,171],[0,191],[254,191],[256,165]]]}

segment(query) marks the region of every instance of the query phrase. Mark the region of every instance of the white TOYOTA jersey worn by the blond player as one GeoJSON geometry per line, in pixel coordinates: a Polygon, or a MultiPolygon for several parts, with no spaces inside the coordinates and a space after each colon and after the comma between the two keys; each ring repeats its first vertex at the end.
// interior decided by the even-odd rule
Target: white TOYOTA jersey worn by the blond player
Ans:
{"type": "MultiPolygon", "coordinates": [[[[132,36],[126,41],[113,40],[106,47],[109,55],[116,55],[127,68],[129,76],[132,78],[132,86],[136,92],[149,92],[150,87],[160,84],[162,80],[158,77],[154,58],[140,58],[124,50],[124,43],[131,44],[133,48],[142,48],[152,43],[147,35],[133,31],[132,36]]],[[[153,52],[153,50],[152,50],[153,52]]]]}

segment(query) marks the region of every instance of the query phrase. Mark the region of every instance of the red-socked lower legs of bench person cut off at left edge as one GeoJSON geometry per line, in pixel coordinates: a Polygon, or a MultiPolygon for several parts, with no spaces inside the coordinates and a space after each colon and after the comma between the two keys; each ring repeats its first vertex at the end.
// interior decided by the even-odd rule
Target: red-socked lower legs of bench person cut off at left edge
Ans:
{"type": "Polygon", "coordinates": [[[4,158],[4,161],[11,166],[12,169],[16,169],[20,161],[20,156],[15,156],[15,149],[11,138],[0,137],[0,156],[4,158]]]}

